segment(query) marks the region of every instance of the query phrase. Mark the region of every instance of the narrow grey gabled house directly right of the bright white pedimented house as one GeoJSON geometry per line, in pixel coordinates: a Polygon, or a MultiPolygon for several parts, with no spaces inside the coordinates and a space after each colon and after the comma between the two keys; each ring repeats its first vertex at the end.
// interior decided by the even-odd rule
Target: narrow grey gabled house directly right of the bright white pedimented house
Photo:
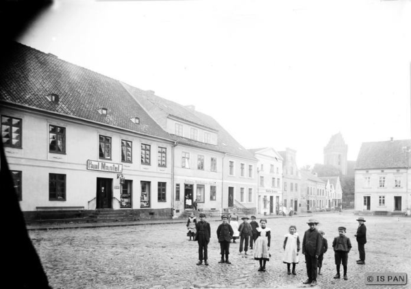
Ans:
{"type": "Polygon", "coordinates": [[[297,166],[297,151],[286,148],[279,151],[283,158],[283,197],[282,205],[286,208],[292,207],[294,212],[301,212],[301,176],[297,166]]]}

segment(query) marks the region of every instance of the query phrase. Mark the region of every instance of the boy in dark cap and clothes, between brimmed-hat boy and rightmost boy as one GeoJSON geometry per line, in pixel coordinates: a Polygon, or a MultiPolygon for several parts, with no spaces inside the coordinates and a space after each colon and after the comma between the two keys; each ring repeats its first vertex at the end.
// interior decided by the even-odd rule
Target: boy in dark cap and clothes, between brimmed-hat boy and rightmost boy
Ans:
{"type": "Polygon", "coordinates": [[[344,279],[347,280],[347,262],[348,253],[351,250],[351,241],[345,236],[345,227],[338,227],[338,237],[332,241],[332,247],[334,248],[334,258],[336,260],[337,274],[334,279],[340,279],[340,266],[343,264],[344,279]]]}

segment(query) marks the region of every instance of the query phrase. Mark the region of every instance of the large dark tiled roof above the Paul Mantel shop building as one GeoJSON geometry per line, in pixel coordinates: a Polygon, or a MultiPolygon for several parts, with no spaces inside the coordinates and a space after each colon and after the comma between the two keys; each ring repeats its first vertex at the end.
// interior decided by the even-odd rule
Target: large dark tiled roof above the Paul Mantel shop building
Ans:
{"type": "Polygon", "coordinates": [[[0,71],[2,101],[170,139],[118,80],[16,42],[11,46],[0,71]],[[58,95],[59,103],[49,101],[49,94],[58,95]],[[99,108],[107,108],[108,115],[99,108]],[[133,117],[140,125],[130,121],[133,117]]]}

